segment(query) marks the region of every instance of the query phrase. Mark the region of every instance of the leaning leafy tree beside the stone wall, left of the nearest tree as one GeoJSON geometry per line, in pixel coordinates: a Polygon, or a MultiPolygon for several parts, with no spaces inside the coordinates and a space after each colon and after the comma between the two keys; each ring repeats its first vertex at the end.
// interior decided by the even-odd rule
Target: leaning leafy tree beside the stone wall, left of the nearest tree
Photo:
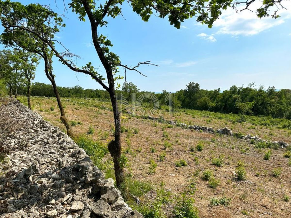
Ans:
{"type": "Polygon", "coordinates": [[[1,22],[2,26],[5,28],[1,35],[1,42],[6,46],[20,47],[42,57],[45,62],[45,74],[52,83],[58,107],[61,112],[60,119],[67,129],[67,134],[73,136],[74,134],[65,116],[65,110],[54,79],[55,75],[53,74],[52,67],[53,50],[50,49],[44,41],[37,38],[32,31],[20,31],[21,29],[17,28],[17,25],[27,28],[33,26],[32,28],[34,31],[41,35],[43,40],[52,40],[51,43],[54,44],[54,34],[60,31],[56,26],[64,26],[61,24],[62,19],[56,18],[55,13],[38,4],[24,6],[19,2],[0,1],[0,8],[2,13],[1,22]],[[30,15],[30,19],[25,17],[26,14],[30,15]],[[37,17],[40,19],[37,19],[37,17]],[[52,26],[46,26],[47,23],[52,26]]]}

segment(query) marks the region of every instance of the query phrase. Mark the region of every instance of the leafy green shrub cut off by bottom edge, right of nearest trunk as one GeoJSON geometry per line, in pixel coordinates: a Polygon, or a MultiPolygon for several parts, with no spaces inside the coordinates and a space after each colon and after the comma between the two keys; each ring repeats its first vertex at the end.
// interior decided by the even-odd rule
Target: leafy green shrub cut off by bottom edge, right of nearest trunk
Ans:
{"type": "Polygon", "coordinates": [[[198,218],[198,210],[194,207],[194,199],[182,194],[181,197],[175,199],[177,202],[174,206],[173,214],[176,218],[198,218]]]}

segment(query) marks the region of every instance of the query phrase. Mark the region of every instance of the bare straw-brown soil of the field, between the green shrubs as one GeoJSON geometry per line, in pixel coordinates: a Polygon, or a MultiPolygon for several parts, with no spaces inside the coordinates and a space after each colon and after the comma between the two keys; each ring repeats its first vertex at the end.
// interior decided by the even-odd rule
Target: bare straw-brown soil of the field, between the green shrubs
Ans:
{"type": "MultiPolygon", "coordinates": [[[[23,101],[24,102],[24,101],[23,101]]],[[[113,139],[113,116],[109,102],[85,99],[63,99],[65,111],[69,120],[81,121],[82,124],[73,126],[76,134],[85,134],[89,126],[95,129],[92,137],[101,140],[100,135],[107,132],[109,137],[104,142],[113,139]]],[[[34,110],[40,113],[52,124],[64,129],[59,120],[59,111],[55,99],[32,98],[34,110]],[[54,110],[50,110],[50,107],[54,110]],[[43,111],[40,111],[43,110],[43,111]]],[[[212,119],[207,123],[206,118],[192,118],[189,115],[180,114],[180,119],[189,120],[193,124],[217,128],[232,127],[233,131],[245,134],[266,136],[271,140],[284,140],[291,142],[290,130],[275,127],[256,126],[249,129],[251,124],[233,124],[229,121],[212,119]]],[[[165,117],[171,118],[168,115],[165,117]]],[[[177,117],[177,115],[176,115],[177,117]]],[[[171,119],[175,119],[172,117],[171,119]]],[[[263,157],[268,149],[256,149],[249,141],[230,136],[221,136],[211,133],[201,133],[174,126],[167,128],[166,124],[155,124],[154,121],[137,119],[122,115],[123,126],[134,130],[137,134],[122,133],[123,150],[127,153],[133,178],[149,181],[158,186],[162,181],[166,189],[173,193],[181,193],[191,181],[196,182],[195,206],[199,210],[200,217],[291,217],[290,201],[284,201],[283,196],[291,196],[291,167],[288,158],[283,157],[286,149],[272,149],[269,160],[263,157]],[[168,137],[164,137],[166,131],[168,137]],[[165,141],[172,144],[172,148],[164,149],[165,141]],[[204,145],[202,151],[190,151],[196,148],[198,143],[204,145]],[[130,144],[130,145],[128,145],[130,144]],[[155,148],[155,152],[151,152],[155,148]],[[159,161],[159,155],[165,153],[165,160],[159,161]],[[224,155],[225,165],[217,167],[212,165],[212,159],[224,155]],[[196,157],[196,158],[195,158],[196,157]],[[157,163],[156,172],[148,173],[149,159],[157,163]],[[177,160],[184,159],[185,167],[176,167],[177,160]],[[246,180],[235,179],[237,162],[244,162],[246,180]],[[281,168],[278,177],[272,175],[274,168],[281,168]],[[215,179],[220,180],[216,189],[208,187],[208,181],[200,177],[203,171],[210,169],[215,179]],[[197,176],[197,170],[200,174],[197,176]],[[196,174],[196,175],[194,175],[196,174]],[[230,205],[210,206],[210,198],[230,198],[230,205]],[[244,211],[244,212],[243,212],[244,211]],[[247,214],[244,215],[243,213],[247,214]]],[[[110,158],[108,155],[105,158],[110,158]]]]}

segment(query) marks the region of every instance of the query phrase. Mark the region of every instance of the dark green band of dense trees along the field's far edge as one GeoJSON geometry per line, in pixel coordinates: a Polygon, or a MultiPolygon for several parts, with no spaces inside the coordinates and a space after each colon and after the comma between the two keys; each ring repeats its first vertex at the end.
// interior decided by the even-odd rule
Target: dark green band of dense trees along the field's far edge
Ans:
{"type": "MultiPolygon", "coordinates": [[[[26,95],[26,87],[18,88],[18,94],[26,95]]],[[[109,100],[109,94],[105,90],[84,89],[80,86],[58,87],[61,97],[83,97],[99,98],[109,100]]],[[[130,99],[131,92],[137,92],[137,97],[145,91],[139,89],[133,84],[125,84],[122,92],[127,100],[130,99]]],[[[167,91],[154,93],[160,102],[160,105],[167,105],[165,100],[167,91]]],[[[33,83],[31,95],[54,97],[52,85],[44,83],[33,83]]],[[[247,87],[237,87],[233,85],[229,90],[221,91],[200,89],[198,83],[189,83],[184,90],[175,92],[175,107],[196,110],[209,110],[213,112],[246,114],[246,115],[263,115],[274,118],[291,119],[291,90],[276,90],[275,87],[260,86],[255,88],[253,83],[247,87]]]]}

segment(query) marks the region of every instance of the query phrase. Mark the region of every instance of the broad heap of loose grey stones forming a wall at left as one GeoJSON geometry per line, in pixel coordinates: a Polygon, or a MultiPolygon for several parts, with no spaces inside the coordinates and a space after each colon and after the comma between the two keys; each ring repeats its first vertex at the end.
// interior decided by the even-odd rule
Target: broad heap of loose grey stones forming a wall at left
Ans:
{"type": "Polygon", "coordinates": [[[18,101],[0,114],[0,217],[142,217],[58,127],[18,101]]]}

